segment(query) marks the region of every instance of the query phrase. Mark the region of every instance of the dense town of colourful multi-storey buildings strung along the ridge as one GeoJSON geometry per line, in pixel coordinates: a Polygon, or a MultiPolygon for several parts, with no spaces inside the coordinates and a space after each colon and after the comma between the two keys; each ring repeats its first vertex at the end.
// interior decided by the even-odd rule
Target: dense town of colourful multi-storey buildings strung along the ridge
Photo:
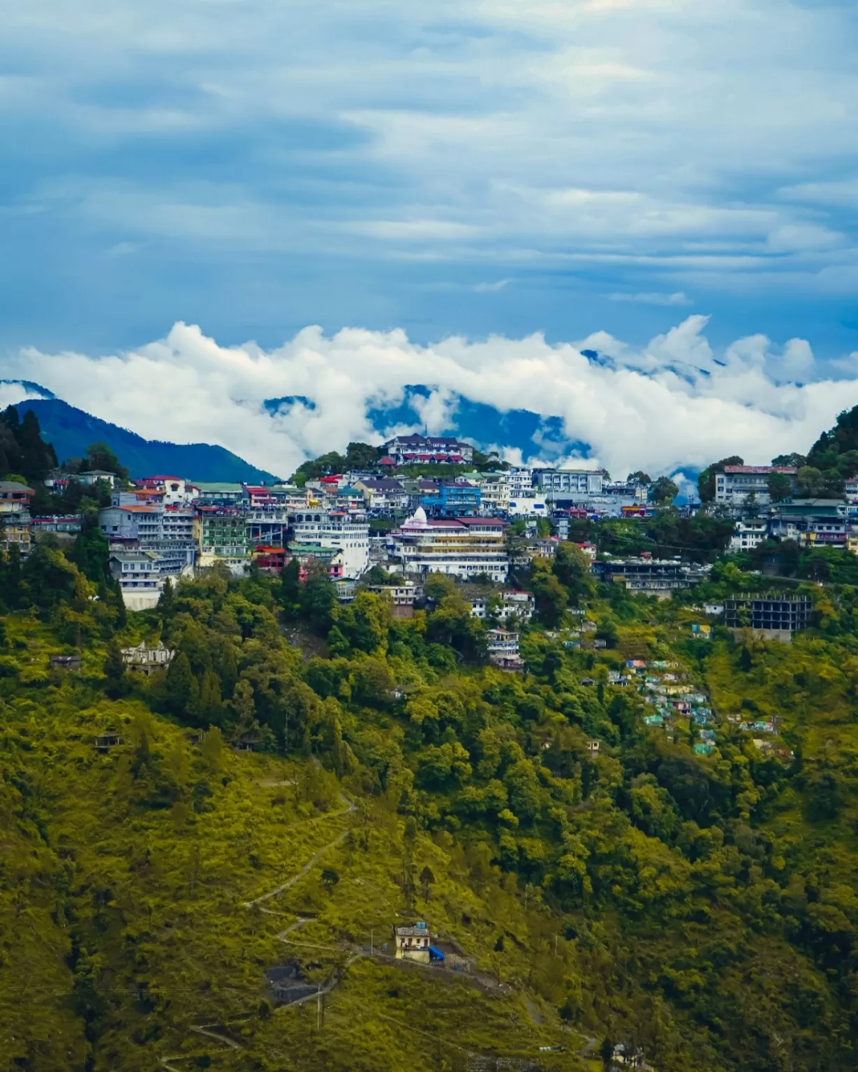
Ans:
{"type": "MultiPolygon", "coordinates": [[[[361,464],[336,472],[308,463],[281,483],[171,474],[128,479],[114,466],[120,472],[57,468],[44,485],[56,493],[74,483],[98,490],[98,525],[129,609],[153,607],[168,580],[198,569],[220,564],[236,576],[250,567],[279,572],[296,561],[302,580],[308,571],[325,571],[341,602],[374,570],[376,582],[387,578],[378,590],[408,616],[427,577],[443,574],[470,582],[475,616],[485,619],[492,600],[489,616],[501,628],[489,637],[489,652],[509,669],[518,653],[516,635],[505,627],[528,621],[534,601],[517,589],[516,567],[550,560],[561,541],[577,545],[597,579],[659,597],[692,587],[710,569],[681,547],[663,556],[618,555],[577,538],[585,530],[598,533],[600,524],[635,525],[669,509],[685,519],[721,519],[728,525],[723,550],[736,553],[788,540],[858,554],[858,478],[845,480],[837,497],[808,494],[796,464],[715,466],[709,501],[677,507],[676,485],[642,472],[611,480],[600,468],[514,466],[448,436],[397,435],[378,448],[352,446],[360,448],[361,464]]],[[[330,457],[341,456],[320,462],[330,457]]],[[[0,539],[21,559],[42,534],[71,539],[82,526],[79,512],[38,513],[34,494],[15,479],[0,481],[0,539]]],[[[722,613],[727,624],[739,623],[735,609],[722,613]]],[[[804,624],[795,607],[781,614],[750,606],[745,620],[773,634],[804,624]]]]}

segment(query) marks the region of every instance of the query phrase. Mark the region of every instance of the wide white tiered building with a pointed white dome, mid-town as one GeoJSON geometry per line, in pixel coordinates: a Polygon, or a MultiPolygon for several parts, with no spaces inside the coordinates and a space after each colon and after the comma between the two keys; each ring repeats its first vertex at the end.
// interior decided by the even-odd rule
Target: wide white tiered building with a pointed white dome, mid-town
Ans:
{"type": "Polygon", "coordinates": [[[433,518],[418,507],[388,536],[388,557],[408,576],[449,574],[464,579],[485,575],[503,582],[509,572],[506,524],[495,518],[433,518]]]}

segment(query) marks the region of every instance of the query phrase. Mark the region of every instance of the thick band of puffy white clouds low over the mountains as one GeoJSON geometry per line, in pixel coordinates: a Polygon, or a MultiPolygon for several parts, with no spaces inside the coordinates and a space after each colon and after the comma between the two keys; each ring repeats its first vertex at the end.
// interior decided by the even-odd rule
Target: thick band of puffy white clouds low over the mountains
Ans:
{"type": "Polygon", "coordinates": [[[642,347],[607,332],[576,343],[534,334],[421,346],[402,330],[326,336],[307,327],[264,349],[221,346],[178,323],[165,339],[107,357],[21,349],[4,375],[148,438],[217,443],[281,475],[350,440],[379,442],[380,410],[391,414],[384,431],[404,430],[395,411],[413,384],[432,388],[418,400],[430,431],[456,427],[460,397],[504,413],[530,410],[561,418],[569,443],[589,445],[571,457],[618,476],[672,473],[729,453],[765,463],[807,450],[858,403],[858,354],[844,358],[844,378],[802,385],[795,379],[813,367],[804,340],[779,348],[751,336],[715,354],[706,325],[689,316],[642,347]],[[284,401],[266,407],[270,399],[284,401]]]}

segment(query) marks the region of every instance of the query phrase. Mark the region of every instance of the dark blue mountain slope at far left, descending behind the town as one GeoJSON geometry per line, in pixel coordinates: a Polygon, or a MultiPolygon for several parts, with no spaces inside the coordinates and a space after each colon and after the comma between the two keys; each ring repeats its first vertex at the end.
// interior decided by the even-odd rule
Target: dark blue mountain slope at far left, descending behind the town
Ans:
{"type": "MultiPolygon", "coordinates": [[[[48,394],[38,384],[24,384],[26,390],[48,394]]],[[[272,473],[256,468],[238,455],[211,443],[163,443],[145,440],[118,425],[93,417],[84,410],[50,397],[15,403],[23,416],[32,410],[39,418],[42,435],[54,444],[57,457],[80,458],[91,443],[106,443],[129,470],[132,477],[168,473],[191,480],[224,480],[246,483],[271,483],[272,473]]]]}

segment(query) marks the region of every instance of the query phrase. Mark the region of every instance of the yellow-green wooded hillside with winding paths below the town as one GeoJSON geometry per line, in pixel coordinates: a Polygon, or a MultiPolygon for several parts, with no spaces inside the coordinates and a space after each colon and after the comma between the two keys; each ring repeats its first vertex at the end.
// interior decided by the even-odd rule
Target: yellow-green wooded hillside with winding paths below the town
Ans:
{"type": "Polygon", "coordinates": [[[656,602],[567,549],[511,674],[443,579],[411,620],[217,570],[125,616],[90,551],[0,572],[5,1067],[855,1068],[854,590],[792,645],[699,640],[692,598],[761,579],[656,602]],[[122,670],[158,639],[165,674],[122,670]],[[396,962],[415,920],[471,970],[396,962]]]}

